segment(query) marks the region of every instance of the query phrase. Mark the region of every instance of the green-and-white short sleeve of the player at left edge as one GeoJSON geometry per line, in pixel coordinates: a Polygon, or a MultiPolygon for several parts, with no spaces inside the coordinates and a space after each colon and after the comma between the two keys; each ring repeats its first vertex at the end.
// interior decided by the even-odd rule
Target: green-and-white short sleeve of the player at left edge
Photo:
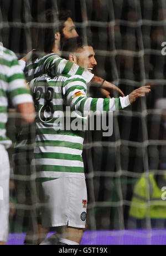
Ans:
{"type": "Polygon", "coordinates": [[[13,106],[18,104],[33,102],[32,95],[25,80],[22,67],[19,65],[17,57],[12,53],[13,60],[8,68],[8,93],[13,106]]]}

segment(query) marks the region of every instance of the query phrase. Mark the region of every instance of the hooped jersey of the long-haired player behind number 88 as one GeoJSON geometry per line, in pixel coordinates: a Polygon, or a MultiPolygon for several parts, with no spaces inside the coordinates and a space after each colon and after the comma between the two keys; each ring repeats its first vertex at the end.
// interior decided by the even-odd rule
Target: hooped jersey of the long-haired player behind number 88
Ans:
{"type": "MultiPolygon", "coordinates": [[[[27,78],[28,82],[32,81],[34,78],[44,75],[47,73],[51,77],[55,77],[58,74],[64,74],[67,76],[71,75],[83,75],[86,82],[90,82],[92,77],[92,73],[84,68],[79,67],[75,63],[67,61],[55,53],[50,53],[49,55],[45,55],[41,58],[38,58],[33,63],[29,63],[26,67],[26,63],[24,61],[19,61],[22,69],[24,70],[24,75],[27,78]]],[[[22,156],[22,152],[27,150],[28,145],[28,157],[29,157],[29,150],[33,148],[33,144],[35,137],[35,130],[33,126],[21,129],[18,132],[17,141],[15,142],[15,156],[20,159],[22,156]]],[[[24,154],[25,157],[25,154],[24,154]]],[[[25,157],[26,159],[26,157],[25,157]]],[[[18,169],[18,167],[17,167],[18,169]]]]}

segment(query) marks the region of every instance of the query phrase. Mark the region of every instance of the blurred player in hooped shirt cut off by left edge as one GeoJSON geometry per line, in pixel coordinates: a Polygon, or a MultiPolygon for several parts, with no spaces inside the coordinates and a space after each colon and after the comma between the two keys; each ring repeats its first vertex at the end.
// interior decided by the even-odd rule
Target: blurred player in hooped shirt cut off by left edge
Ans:
{"type": "Polygon", "coordinates": [[[8,101],[23,120],[30,124],[34,120],[34,105],[25,81],[22,68],[12,51],[0,43],[0,244],[7,242],[9,217],[9,157],[6,149],[12,141],[8,138],[8,101]]]}

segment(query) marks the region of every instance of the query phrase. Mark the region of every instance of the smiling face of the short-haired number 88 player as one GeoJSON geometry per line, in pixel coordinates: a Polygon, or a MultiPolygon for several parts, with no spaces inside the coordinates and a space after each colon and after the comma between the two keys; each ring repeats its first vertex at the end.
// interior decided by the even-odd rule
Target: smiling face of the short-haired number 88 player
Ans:
{"type": "Polygon", "coordinates": [[[93,73],[94,67],[97,65],[93,47],[84,46],[82,49],[79,49],[77,53],[77,65],[79,65],[80,67],[87,68],[91,73],[93,73]]]}

